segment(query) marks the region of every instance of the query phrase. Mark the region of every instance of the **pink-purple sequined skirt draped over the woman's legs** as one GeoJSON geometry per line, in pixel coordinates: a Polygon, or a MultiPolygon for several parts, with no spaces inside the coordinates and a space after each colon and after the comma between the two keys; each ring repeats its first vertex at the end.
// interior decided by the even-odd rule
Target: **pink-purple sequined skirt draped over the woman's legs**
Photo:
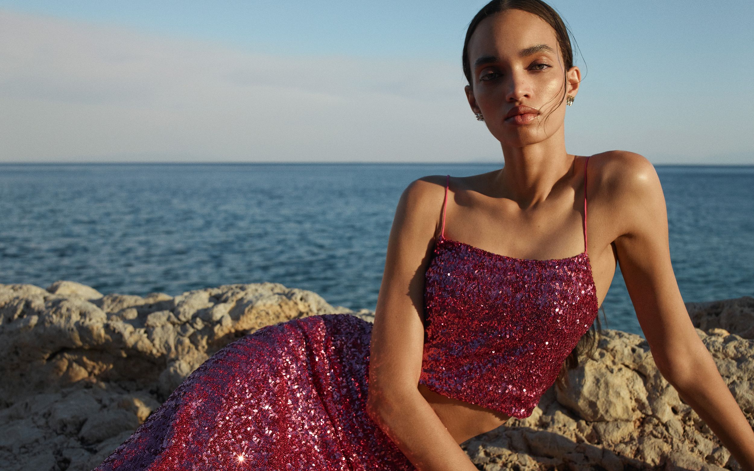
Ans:
{"type": "Polygon", "coordinates": [[[415,469],[366,414],[371,333],[323,314],[228,344],[96,471],[415,469]]]}

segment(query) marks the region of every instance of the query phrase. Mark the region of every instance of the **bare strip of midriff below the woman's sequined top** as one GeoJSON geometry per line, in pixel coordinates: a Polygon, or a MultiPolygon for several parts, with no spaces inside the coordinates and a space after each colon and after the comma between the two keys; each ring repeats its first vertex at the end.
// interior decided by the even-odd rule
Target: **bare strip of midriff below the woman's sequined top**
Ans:
{"type": "Polygon", "coordinates": [[[419,384],[418,390],[458,445],[471,437],[495,430],[510,418],[494,409],[435,393],[425,384],[419,384]]]}

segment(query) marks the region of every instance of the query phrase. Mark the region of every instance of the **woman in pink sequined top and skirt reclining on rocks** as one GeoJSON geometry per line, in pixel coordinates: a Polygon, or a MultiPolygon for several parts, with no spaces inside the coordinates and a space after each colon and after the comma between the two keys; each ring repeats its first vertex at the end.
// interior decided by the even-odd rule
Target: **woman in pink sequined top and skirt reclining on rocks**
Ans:
{"type": "Polygon", "coordinates": [[[563,378],[617,260],[658,368],[752,469],[754,433],[676,286],[654,167],[566,153],[581,72],[562,20],[539,0],[490,2],[463,66],[504,168],[406,188],[373,328],[326,314],[229,344],[97,469],[477,469],[458,445],[563,378]]]}

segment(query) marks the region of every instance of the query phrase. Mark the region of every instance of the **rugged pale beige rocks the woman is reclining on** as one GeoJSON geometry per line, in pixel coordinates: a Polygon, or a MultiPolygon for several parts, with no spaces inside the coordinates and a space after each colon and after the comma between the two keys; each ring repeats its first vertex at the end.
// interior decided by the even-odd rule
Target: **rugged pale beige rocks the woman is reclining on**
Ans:
{"type": "MultiPolygon", "coordinates": [[[[754,298],[686,304],[754,425],[754,298]]],[[[333,307],[279,283],[178,296],[0,284],[0,469],[87,471],[228,342],[333,307]]],[[[526,419],[462,444],[479,469],[741,469],[657,371],[639,335],[603,329],[595,360],[526,419]]]]}

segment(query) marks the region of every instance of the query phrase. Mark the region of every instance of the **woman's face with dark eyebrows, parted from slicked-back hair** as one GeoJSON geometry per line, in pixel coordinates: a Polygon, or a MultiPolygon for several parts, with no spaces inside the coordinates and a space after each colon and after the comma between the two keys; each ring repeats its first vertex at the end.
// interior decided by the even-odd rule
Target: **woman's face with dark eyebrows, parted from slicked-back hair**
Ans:
{"type": "Polygon", "coordinates": [[[580,72],[564,65],[555,30],[540,17],[507,10],[479,23],[467,48],[471,86],[466,95],[471,109],[482,113],[487,128],[503,145],[521,147],[544,141],[562,129],[566,95],[575,96],[580,72]],[[538,113],[506,118],[515,106],[531,106],[538,113]],[[552,112],[547,122],[544,117],[552,112]]]}

